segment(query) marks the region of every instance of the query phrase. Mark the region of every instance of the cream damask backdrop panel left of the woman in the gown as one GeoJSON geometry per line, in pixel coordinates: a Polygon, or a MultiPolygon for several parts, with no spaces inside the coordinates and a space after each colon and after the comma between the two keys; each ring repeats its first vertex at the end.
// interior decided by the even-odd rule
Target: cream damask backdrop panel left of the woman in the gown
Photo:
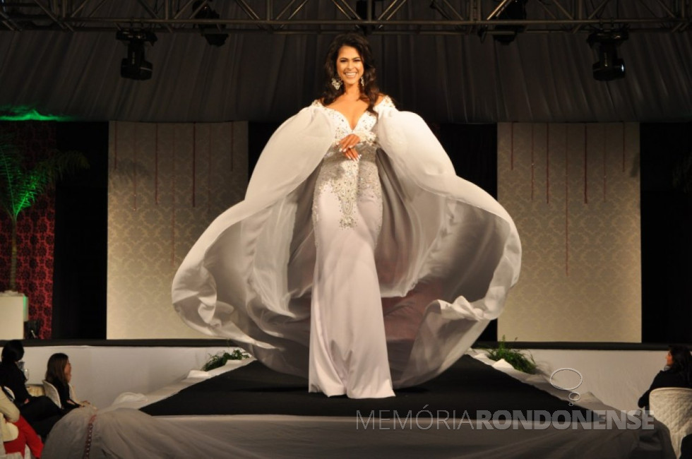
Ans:
{"type": "Polygon", "coordinates": [[[247,186],[247,123],[109,126],[107,338],[203,338],[171,303],[177,267],[247,186]]]}

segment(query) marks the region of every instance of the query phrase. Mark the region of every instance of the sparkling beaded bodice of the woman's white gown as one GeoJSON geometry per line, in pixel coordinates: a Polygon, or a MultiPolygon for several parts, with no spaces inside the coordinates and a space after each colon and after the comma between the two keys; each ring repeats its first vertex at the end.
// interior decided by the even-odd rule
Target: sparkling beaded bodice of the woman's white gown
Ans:
{"type": "MultiPolygon", "coordinates": [[[[330,188],[341,205],[341,227],[353,227],[356,223],[353,206],[357,198],[363,193],[371,193],[374,197],[381,199],[382,191],[375,163],[378,143],[373,131],[377,124],[377,116],[366,111],[351,129],[349,121],[337,110],[324,107],[318,100],[313,102],[312,106],[323,109],[334,126],[334,142],[324,155],[315,193],[322,193],[326,188],[330,188]],[[351,133],[361,139],[355,147],[361,155],[357,161],[350,160],[339,151],[339,141],[351,133]]],[[[393,107],[394,105],[389,97],[384,97],[375,109],[383,106],[393,107]]],[[[316,210],[313,208],[314,219],[318,215],[316,210]]]]}

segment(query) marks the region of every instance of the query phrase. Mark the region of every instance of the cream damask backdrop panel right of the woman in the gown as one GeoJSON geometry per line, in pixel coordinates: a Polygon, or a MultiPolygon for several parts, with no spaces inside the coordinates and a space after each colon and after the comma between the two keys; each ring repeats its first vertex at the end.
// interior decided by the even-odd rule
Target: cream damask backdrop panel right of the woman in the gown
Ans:
{"type": "Polygon", "coordinates": [[[498,335],[641,340],[638,124],[499,124],[498,196],[523,245],[498,335]]]}

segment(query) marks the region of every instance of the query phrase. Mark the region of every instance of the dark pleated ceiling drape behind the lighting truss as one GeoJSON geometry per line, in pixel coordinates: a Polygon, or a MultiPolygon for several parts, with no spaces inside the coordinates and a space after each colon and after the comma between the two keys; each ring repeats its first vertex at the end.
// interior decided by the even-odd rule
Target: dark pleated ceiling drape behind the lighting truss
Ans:
{"type": "MultiPolygon", "coordinates": [[[[617,3],[619,16],[637,17],[648,2],[617,3]]],[[[102,8],[130,17],[133,4],[102,8]]],[[[238,6],[217,2],[214,8],[230,17],[238,6]]],[[[326,1],[305,8],[303,16],[338,15],[326,1]]],[[[530,18],[547,17],[539,2],[527,9],[530,18]]],[[[397,18],[440,16],[428,1],[410,1],[397,18]]],[[[381,88],[402,108],[439,122],[692,117],[692,32],[631,33],[619,49],[626,78],[611,82],[592,78],[596,56],[586,37],[524,33],[503,45],[475,34],[372,35],[371,43],[381,88]]],[[[4,31],[0,107],[99,121],[279,121],[318,95],[331,38],[232,33],[225,45],[212,47],[196,33],[160,33],[147,46],[153,78],[132,81],[120,77],[126,47],[112,32],[4,31]]]]}

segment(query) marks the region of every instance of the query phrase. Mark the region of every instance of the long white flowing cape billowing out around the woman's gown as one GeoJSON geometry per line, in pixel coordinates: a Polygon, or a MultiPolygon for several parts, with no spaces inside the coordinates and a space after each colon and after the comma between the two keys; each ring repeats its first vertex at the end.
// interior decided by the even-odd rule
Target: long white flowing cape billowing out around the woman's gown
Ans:
{"type": "MultiPolygon", "coordinates": [[[[384,210],[375,256],[392,380],[404,387],[444,371],[499,316],[518,280],[521,246],[506,210],[455,175],[420,117],[378,112],[384,210]]],[[[189,326],[299,376],[308,374],[312,196],[333,132],[318,107],[285,121],[263,150],[245,200],[205,230],[172,286],[189,326]]]]}

